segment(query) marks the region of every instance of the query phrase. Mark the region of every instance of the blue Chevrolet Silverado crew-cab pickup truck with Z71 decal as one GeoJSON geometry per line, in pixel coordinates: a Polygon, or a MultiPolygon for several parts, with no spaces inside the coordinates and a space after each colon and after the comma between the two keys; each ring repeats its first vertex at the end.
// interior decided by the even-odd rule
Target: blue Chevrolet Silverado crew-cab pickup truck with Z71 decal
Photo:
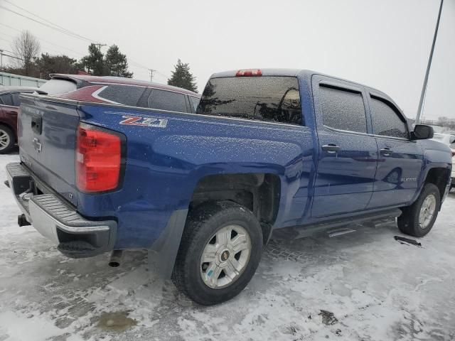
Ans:
{"type": "Polygon", "coordinates": [[[240,293],[270,238],[382,217],[422,237],[449,192],[449,147],[355,82],[220,72],[185,111],[120,102],[102,79],[88,90],[63,80],[65,95],[22,96],[21,161],[6,167],[19,224],[73,258],[149,249],[203,305],[240,293]]]}

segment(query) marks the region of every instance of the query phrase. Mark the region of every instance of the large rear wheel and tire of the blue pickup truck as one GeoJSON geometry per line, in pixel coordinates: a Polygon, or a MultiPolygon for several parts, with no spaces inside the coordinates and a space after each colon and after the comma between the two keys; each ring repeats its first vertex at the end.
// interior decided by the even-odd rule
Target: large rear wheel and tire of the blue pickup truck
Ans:
{"type": "Polygon", "coordinates": [[[246,207],[230,201],[201,205],[188,214],[172,281],[200,305],[228,301],[255,274],[262,240],[261,226],[246,207]]]}

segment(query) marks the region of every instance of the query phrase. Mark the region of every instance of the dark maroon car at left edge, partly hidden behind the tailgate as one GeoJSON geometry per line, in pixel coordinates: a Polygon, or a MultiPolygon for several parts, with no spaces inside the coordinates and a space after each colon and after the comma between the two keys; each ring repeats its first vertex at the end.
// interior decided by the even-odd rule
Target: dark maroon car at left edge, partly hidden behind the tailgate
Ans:
{"type": "Polygon", "coordinates": [[[17,141],[19,94],[31,94],[35,87],[0,87],[0,154],[9,153],[17,141]]]}

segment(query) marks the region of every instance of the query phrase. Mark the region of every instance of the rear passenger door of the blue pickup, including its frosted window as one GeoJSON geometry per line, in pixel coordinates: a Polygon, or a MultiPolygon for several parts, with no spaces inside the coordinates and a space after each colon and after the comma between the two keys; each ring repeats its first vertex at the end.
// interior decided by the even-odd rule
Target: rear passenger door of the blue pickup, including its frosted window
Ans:
{"type": "Polygon", "coordinates": [[[312,217],[365,210],[378,159],[365,91],[359,85],[314,76],[319,139],[312,217]]]}

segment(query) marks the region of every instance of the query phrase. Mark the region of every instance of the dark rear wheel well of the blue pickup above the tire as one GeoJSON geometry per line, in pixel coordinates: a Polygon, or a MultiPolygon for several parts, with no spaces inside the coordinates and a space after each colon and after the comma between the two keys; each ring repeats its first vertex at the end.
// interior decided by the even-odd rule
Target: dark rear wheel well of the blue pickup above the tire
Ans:
{"type": "Polygon", "coordinates": [[[242,173],[208,175],[199,180],[190,209],[204,202],[230,200],[250,209],[262,227],[264,244],[277,218],[280,196],[279,177],[274,174],[242,173]]]}

